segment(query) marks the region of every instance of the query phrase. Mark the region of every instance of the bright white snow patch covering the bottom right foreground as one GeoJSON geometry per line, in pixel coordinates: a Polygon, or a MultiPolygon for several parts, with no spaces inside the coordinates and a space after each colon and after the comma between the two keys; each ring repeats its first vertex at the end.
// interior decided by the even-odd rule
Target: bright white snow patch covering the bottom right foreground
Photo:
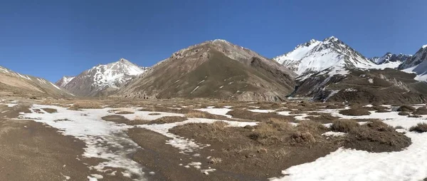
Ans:
{"type": "MultiPolygon", "coordinates": [[[[368,105],[369,106],[369,105],[368,105]]],[[[390,106],[388,106],[390,107],[390,106]]],[[[423,118],[408,118],[397,112],[374,113],[362,116],[347,116],[339,110],[319,110],[344,119],[376,118],[392,126],[401,125],[408,129],[417,123],[427,123],[423,118]]],[[[399,130],[404,131],[404,130],[399,130]]],[[[367,152],[339,148],[314,162],[295,165],[283,170],[284,177],[271,180],[423,180],[427,177],[427,133],[406,132],[412,144],[399,152],[367,152]],[[309,174],[308,174],[309,173],[309,174]]],[[[342,136],[344,133],[324,133],[325,136],[342,136]]]]}

